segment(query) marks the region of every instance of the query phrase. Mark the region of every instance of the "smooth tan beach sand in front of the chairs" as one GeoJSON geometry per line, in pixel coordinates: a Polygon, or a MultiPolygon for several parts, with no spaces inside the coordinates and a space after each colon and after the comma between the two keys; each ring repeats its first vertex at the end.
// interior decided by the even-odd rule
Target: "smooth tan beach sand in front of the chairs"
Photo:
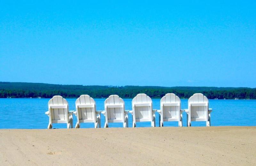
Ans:
{"type": "Polygon", "coordinates": [[[256,127],[0,130],[0,165],[256,165],[256,127]]]}

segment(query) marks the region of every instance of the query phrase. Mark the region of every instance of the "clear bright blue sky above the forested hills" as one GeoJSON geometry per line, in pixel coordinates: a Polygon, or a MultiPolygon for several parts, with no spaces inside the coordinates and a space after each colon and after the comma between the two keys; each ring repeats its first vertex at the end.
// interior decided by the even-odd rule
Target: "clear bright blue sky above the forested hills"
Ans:
{"type": "Polygon", "coordinates": [[[0,81],[256,87],[256,1],[0,1],[0,81]]]}

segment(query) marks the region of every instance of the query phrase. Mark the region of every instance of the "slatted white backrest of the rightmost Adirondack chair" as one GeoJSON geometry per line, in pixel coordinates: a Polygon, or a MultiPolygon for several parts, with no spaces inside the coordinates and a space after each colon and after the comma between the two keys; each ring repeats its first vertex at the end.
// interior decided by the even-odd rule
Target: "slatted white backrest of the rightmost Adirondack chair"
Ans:
{"type": "Polygon", "coordinates": [[[207,118],[209,102],[206,96],[196,93],[188,99],[188,108],[190,109],[191,118],[207,118]]]}

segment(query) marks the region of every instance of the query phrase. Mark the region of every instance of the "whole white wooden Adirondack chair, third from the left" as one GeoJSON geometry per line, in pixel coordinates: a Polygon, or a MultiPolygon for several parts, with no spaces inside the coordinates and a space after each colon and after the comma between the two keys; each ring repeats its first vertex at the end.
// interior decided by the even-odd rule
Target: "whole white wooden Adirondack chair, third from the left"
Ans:
{"type": "Polygon", "coordinates": [[[104,102],[105,111],[101,113],[105,116],[105,125],[108,123],[122,122],[124,127],[128,127],[128,112],[124,108],[124,100],[118,95],[110,95],[104,102]]]}

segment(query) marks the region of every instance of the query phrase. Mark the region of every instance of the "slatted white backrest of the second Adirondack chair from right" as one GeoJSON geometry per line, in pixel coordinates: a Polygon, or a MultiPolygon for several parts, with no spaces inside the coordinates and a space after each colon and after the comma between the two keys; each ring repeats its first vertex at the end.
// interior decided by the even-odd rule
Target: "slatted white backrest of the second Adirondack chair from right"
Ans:
{"type": "Polygon", "coordinates": [[[175,94],[165,94],[165,96],[160,100],[160,107],[163,118],[180,117],[180,98],[175,94]]]}

